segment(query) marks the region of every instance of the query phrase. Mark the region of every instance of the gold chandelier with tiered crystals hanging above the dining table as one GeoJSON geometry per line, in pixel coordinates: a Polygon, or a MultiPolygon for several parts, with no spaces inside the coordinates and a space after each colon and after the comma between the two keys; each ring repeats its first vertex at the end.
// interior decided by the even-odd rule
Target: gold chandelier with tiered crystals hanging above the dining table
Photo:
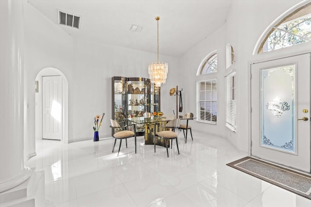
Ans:
{"type": "Polygon", "coordinates": [[[157,22],[157,62],[149,64],[148,67],[150,80],[156,87],[160,87],[162,83],[165,83],[168,72],[168,64],[159,62],[159,19],[159,16],[155,17],[157,22]]]}

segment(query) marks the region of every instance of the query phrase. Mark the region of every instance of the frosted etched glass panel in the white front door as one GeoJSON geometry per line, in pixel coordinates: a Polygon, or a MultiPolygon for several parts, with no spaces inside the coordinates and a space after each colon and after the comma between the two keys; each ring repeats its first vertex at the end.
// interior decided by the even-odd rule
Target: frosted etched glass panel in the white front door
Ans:
{"type": "Polygon", "coordinates": [[[295,65],[261,69],[260,76],[260,145],[296,153],[295,65]]]}

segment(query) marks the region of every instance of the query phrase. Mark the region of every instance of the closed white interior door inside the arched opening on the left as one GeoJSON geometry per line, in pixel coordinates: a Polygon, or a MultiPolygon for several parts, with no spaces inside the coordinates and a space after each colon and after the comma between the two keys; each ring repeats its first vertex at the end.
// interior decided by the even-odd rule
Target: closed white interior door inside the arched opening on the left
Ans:
{"type": "Polygon", "coordinates": [[[43,139],[62,138],[62,84],[60,76],[42,77],[43,139]]]}

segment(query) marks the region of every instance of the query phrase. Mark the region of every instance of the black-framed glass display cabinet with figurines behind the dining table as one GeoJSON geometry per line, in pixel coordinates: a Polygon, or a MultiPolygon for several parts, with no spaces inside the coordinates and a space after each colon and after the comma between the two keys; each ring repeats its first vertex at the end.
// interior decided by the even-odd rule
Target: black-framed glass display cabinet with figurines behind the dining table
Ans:
{"type": "MultiPolygon", "coordinates": [[[[160,87],[146,78],[112,77],[112,119],[127,124],[127,118],[154,111],[160,111],[160,87]]],[[[112,129],[112,134],[116,130],[112,129]]],[[[144,131],[143,124],[136,126],[137,136],[144,135],[144,131]]]]}

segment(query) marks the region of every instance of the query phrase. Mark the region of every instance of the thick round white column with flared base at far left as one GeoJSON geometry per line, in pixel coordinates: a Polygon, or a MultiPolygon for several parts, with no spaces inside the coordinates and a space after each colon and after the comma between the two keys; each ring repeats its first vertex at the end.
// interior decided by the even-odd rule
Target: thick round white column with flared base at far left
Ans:
{"type": "Polygon", "coordinates": [[[24,182],[23,1],[0,0],[0,192],[24,182]]]}

